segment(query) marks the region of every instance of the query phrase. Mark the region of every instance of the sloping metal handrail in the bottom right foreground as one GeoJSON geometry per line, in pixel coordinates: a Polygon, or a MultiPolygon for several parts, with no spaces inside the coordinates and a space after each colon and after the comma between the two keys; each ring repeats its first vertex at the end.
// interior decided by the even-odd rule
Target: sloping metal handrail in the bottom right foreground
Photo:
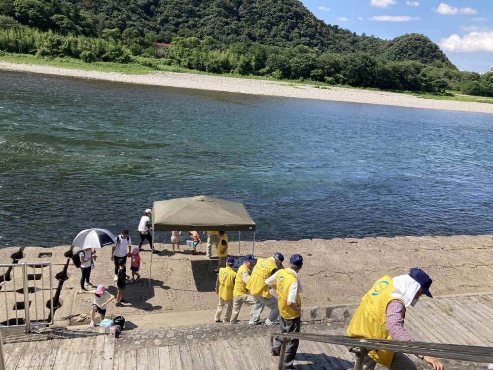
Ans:
{"type": "Polygon", "coordinates": [[[458,344],[411,342],[405,340],[385,340],[372,338],[353,338],[344,335],[329,335],[315,333],[273,333],[271,341],[282,338],[281,353],[279,354],[279,367],[282,369],[287,340],[309,340],[327,344],[337,344],[350,347],[350,352],[356,354],[354,370],[363,369],[363,361],[371,350],[385,350],[412,355],[432,356],[458,361],[472,361],[479,363],[493,363],[493,347],[466,346],[458,344]]]}

